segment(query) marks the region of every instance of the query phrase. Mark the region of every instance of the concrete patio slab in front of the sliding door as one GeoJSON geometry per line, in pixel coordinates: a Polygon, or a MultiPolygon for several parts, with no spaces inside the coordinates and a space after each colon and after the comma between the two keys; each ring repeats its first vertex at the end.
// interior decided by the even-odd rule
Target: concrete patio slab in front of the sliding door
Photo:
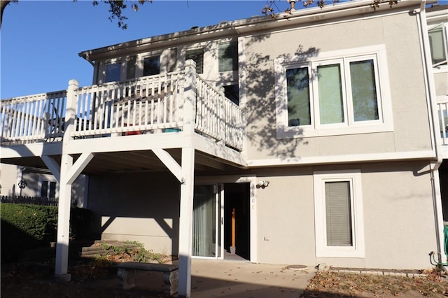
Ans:
{"type": "MultiPolygon", "coordinates": [[[[300,297],[316,269],[287,269],[288,265],[253,264],[236,260],[192,261],[191,296],[201,297],[300,297]]],[[[137,271],[137,287],[141,293],[163,291],[160,272],[137,271]]],[[[118,278],[109,280],[118,287],[118,278]]]]}

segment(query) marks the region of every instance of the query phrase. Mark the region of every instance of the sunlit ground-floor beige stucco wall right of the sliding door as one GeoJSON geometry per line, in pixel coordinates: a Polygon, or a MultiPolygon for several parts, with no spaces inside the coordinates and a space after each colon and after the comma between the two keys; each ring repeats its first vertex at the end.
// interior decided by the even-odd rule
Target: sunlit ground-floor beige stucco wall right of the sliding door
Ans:
{"type": "Polygon", "coordinates": [[[258,262],[423,269],[436,250],[430,175],[424,162],[269,169],[257,173],[258,262]],[[316,257],[313,171],[360,169],[365,257],[316,257]],[[267,238],[265,238],[267,237],[267,238]]]}

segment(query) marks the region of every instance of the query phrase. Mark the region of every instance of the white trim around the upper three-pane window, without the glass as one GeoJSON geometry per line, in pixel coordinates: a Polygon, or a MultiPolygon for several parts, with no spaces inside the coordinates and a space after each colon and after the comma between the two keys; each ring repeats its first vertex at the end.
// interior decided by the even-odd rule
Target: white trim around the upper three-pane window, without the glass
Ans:
{"type": "MultiPolygon", "coordinates": [[[[312,69],[311,69],[312,71],[312,69]]],[[[344,134],[365,134],[372,132],[392,132],[392,104],[391,90],[389,88],[389,78],[387,69],[387,57],[385,45],[371,45],[362,48],[353,48],[348,50],[337,50],[332,52],[318,53],[316,57],[307,60],[291,59],[279,57],[274,60],[275,73],[275,104],[276,104],[276,131],[277,139],[293,139],[314,136],[335,136],[344,134]],[[300,125],[297,127],[288,127],[288,97],[286,94],[286,69],[294,67],[304,67],[313,64],[327,64],[330,60],[341,61],[341,63],[349,63],[360,59],[374,58],[375,62],[375,79],[377,83],[378,113],[379,120],[347,122],[335,125],[318,125],[316,123],[316,115],[318,108],[314,104],[317,99],[314,98],[317,84],[310,84],[310,108],[311,108],[311,125],[300,125]]],[[[312,79],[312,78],[311,78],[312,79]]],[[[346,85],[342,86],[346,88],[346,85]]],[[[345,90],[351,92],[350,90],[345,90]]],[[[345,95],[344,95],[345,97],[345,95]]],[[[346,97],[344,98],[346,99],[346,97]]],[[[345,100],[346,104],[347,101],[345,100]]],[[[349,103],[351,105],[351,103],[349,103]]],[[[344,108],[344,113],[346,113],[344,108]]],[[[349,113],[351,110],[349,110],[349,113]]],[[[350,118],[349,118],[350,119],[350,118]]]]}

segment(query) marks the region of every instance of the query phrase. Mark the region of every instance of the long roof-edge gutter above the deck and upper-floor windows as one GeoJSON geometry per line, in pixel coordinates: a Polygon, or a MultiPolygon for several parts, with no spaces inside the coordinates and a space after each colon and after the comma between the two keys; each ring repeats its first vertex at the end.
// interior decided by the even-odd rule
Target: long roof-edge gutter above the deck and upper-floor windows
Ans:
{"type": "MultiPolygon", "coordinates": [[[[429,0],[430,2],[435,2],[429,0]]],[[[418,5],[418,4],[417,4],[418,5]]],[[[388,13],[391,10],[403,10],[408,6],[416,6],[413,0],[401,0],[398,5],[389,8],[388,1],[380,4],[375,10],[372,8],[371,0],[356,0],[335,5],[328,4],[324,8],[306,8],[295,10],[292,13],[278,13],[273,20],[269,16],[249,17],[232,22],[221,22],[219,24],[192,28],[172,34],[164,34],[149,38],[141,38],[135,41],[127,41],[103,48],[86,50],[78,55],[86,59],[90,64],[94,60],[106,57],[116,57],[121,52],[144,52],[158,48],[169,48],[183,43],[199,42],[205,39],[217,39],[225,36],[255,34],[265,30],[275,31],[287,27],[299,27],[301,24],[318,24],[335,18],[350,17],[353,15],[379,15],[379,11],[388,13]]]]}

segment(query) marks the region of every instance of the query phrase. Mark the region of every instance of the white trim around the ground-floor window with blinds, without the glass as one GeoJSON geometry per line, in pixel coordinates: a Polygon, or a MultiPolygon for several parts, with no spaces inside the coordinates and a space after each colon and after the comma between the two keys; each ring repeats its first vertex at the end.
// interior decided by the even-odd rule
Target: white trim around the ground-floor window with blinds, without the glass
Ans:
{"type": "Polygon", "coordinates": [[[365,257],[363,196],[360,171],[315,171],[313,179],[316,257],[365,257]],[[350,182],[353,246],[338,247],[326,245],[325,182],[333,181],[350,182]]]}

